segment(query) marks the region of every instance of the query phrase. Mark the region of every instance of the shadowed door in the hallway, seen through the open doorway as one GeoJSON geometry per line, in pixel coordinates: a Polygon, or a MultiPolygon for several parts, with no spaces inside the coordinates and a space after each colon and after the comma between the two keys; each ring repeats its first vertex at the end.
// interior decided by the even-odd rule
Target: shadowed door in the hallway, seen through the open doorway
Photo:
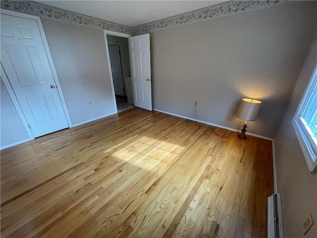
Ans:
{"type": "Polygon", "coordinates": [[[119,46],[109,46],[108,48],[114,94],[124,96],[119,46]]]}

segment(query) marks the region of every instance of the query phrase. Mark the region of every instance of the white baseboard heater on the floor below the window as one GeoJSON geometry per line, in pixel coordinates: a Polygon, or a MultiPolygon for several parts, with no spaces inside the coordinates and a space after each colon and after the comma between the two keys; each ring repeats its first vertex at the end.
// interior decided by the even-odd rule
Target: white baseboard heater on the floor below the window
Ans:
{"type": "Polygon", "coordinates": [[[267,238],[284,238],[281,194],[267,198],[267,238]]]}

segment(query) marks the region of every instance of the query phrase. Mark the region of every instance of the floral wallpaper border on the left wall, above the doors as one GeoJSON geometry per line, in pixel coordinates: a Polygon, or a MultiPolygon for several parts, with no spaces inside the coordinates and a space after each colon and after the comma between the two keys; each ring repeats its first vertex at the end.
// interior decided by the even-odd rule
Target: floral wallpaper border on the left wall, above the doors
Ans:
{"type": "Polygon", "coordinates": [[[126,34],[132,33],[132,27],[60,9],[36,1],[1,0],[0,7],[12,11],[36,15],[47,20],[59,21],[77,26],[85,26],[99,30],[109,30],[126,34]]]}

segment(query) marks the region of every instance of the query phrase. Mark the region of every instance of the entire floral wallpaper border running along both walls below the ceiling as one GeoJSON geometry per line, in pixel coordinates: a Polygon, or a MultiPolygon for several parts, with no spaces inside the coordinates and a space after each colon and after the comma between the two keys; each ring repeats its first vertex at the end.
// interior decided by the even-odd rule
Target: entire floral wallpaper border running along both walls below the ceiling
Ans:
{"type": "MultiPolygon", "coordinates": [[[[167,17],[143,25],[129,27],[106,21],[100,18],[83,15],[80,13],[60,9],[30,0],[1,0],[0,7],[8,10],[19,11],[37,15],[43,19],[59,21],[77,26],[85,26],[99,30],[109,30],[120,33],[141,35],[150,32],[162,31],[181,26],[216,20],[245,14],[254,11],[261,11],[272,7],[297,4],[300,0],[245,0],[227,1],[216,5],[204,7],[198,10],[182,13],[176,16],[167,17]]],[[[305,1],[304,1],[305,2],[305,1]]]]}

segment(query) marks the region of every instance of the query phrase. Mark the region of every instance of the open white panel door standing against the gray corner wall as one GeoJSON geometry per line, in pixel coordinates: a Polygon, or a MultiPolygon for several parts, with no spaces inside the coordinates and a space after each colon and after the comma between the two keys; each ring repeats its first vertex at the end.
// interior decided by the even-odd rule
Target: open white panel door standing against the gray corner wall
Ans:
{"type": "Polygon", "coordinates": [[[129,38],[134,105],[152,111],[150,34],[129,38]]]}

